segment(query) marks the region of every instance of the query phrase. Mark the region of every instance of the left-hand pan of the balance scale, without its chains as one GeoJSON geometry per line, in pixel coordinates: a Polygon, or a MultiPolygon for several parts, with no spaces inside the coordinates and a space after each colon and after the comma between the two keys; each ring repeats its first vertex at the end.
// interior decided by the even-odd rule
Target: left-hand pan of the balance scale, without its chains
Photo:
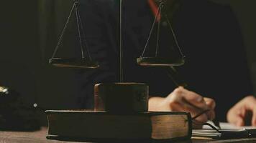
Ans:
{"type": "Polygon", "coordinates": [[[76,58],[52,58],[49,59],[49,63],[52,66],[58,67],[69,67],[69,68],[81,68],[81,69],[96,69],[99,64],[96,61],[91,61],[88,59],[76,59],[76,58]]]}

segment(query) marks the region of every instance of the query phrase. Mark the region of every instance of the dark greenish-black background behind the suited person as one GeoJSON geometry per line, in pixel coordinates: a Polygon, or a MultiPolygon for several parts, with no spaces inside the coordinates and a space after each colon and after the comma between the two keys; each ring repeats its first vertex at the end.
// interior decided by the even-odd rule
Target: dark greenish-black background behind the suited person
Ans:
{"type": "MultiPolygon", "coordinates": [[[[211,1],[229,4],[237,15],[256,89],[256,1],[211,1]]],[[[0,85],[17,90],[27,104],[37,102],[44,109],[78,108],[78,71],[58,69],[47,64],[70,11],[71,2],[12,0],[0,4],[0,85]]],[[[65,38],[72,39],[73,36],[68,34],[65,38]]]]}

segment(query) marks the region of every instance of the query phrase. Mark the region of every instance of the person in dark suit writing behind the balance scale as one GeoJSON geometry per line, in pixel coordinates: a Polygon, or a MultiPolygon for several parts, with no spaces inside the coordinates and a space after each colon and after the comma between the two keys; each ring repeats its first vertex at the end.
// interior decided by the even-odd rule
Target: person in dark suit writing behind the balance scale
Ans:
{"type": "MultiPolygon", "coordinates": [[[[195,116],[205,109],[213,110],[215,99],[218,118],[225,121],[229,108],[252,94],[244,44],[232,10],[205,0],[169,0],[166,7],[186,55],[186,64],[177,70],[188,88],[176,87],[163,68],[137,64],[155,18],[150,0],[123,1],[124,81],[149,84],[150,110],[187,111],[195,116]]],[[[81,105],[91,108],[93,84],[119,79],[119,1],[81,1],[81,13],[91,56],[101,66],[96,71],[81,71],[81,105]]],[[[163,54],[173,42],[164,22],[160,35],[163,54]]],[[[150,44],[152,47],[154,41],[150,44]]],[[[213,111],[198,121],[212,118],[213,111]]]]}

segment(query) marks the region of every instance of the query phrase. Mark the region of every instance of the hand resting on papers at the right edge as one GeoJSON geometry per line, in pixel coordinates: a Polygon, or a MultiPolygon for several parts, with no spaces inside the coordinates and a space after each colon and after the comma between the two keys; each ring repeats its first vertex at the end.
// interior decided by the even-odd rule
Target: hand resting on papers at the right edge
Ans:
{"type": "Polygon", "coordinates": [[[227,113],[227,121],[237,126],[244,126],[247,114],[252,112],[252,126],[256,126],[256,99],[248,96],[234,105],[227,113]]]}

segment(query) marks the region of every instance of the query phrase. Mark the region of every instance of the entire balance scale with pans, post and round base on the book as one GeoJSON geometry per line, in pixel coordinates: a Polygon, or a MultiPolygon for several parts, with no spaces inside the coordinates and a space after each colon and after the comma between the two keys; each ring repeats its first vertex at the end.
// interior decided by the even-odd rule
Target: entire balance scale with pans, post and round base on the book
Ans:
{"type": "MultiPolygon", "coordinates": [[[[145,44],[145,49],[142,51],[142,55],[137,58],[137,64],[140,66],[151,66],[151,67],[163,67],[168,69],[168,73],[170,74],[171,79],[177,86],[184,86],[183,82],[178,82],[177,71],[175,71],[174,66],[181,66],[185,63],[185,56],[183,55],[180,46],[178,45],[178,41],[176,39],[173,27],[170,24],[167,14],[165,14],[165,1],[157,0],[159,2],[157,14],[152,23],[152,28],[150,30],[150,34],[147,38],[147,42],[145,44]],[[173,57],[160,57],[158,56],[158,51],[160,50],[159,42],[160,42],[160,24],[163,22],[163,19],[167,21],[168,28],[170,33],[173,35],[173,40],[175,44],[175,48],[178,49],[180,58],[173,57]],[[157,30],[157,41],[155,46],[155,56],[147,56],[145,57],[145,52],[148,49],[148,44],[150,38],[152,37],[152,31],[157,30]]],[[[86,34],[83,29],[83,22],[81,18],[81,14],[79,13],[79,1],[73,0],[73,7],[68,16],[68,20],[65,23],[64,29],[60,35],[60,39],[55,48],[55,51],[52,54],[52,58],[49,60],[49,63],[52,66],[58,67],[67,67],[67,68],[81,68],[81,69],[90,69],[96,70],[100,67],[100,64],[97,61],[93,60],[91,57],[90,49],[88,47],[86,41],[86,34]],[[56,53],[60,48],[60,44],[63,41],[63,36],[65,35],[65,31],[68,28],[68,24],[70,23],[70,19],[72,15],[76,15],[76,25],[78,27],[78,37],[79,44],[81,48],[81,58],[58,58],[56,57],[56,53]],[[86,52],[86,54],[85,54],[86,52]],[[87,55],[87,57],[85,56],[87,55]]],[[[124,72],[123,72],[123,46],[122,46],[122,0],[120,0],[120,35],[119,35],[119,66],[120,66],[120,80],[116,83],[101,83],[96,84],[94,87],[94,111],[93,112],[109,112],[111,114],[137,114],[137,113],[145,113],[148,112],[148,99],[149,99],[149,87],[144,83],[135,83],[135,82],[124,82],[124,72]]],[[[117,66],[117,65],[116,65],[117,66]]],[[[55,111],[58,112],[58,111],[55,111]]],[[[62,111],[58,112],[58,114],[63,114],[62,111]]],[[[77,113],[78,114],[78,113],[77,113]]],[[[80,114],[86,114],[86,112],[80,114]]]]}

